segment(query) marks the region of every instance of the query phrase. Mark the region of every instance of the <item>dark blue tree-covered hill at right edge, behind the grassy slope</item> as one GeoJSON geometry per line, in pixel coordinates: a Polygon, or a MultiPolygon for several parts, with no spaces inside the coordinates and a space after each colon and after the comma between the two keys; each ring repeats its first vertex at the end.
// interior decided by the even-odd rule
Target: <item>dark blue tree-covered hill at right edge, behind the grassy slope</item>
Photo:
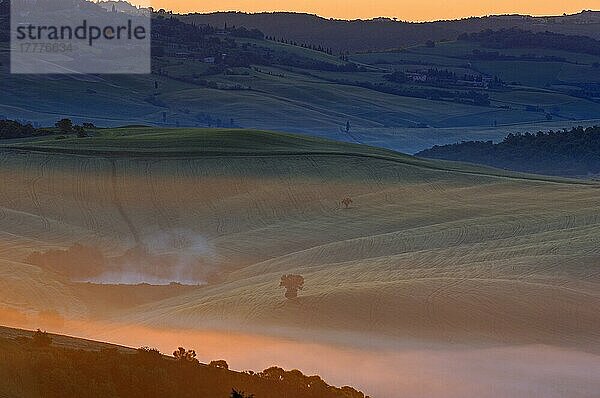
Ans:
{"type": "Polygon", "coordinates": [[[486,164],[516,171],[560,176],[600,173],[600,127],[509,134],[502,142],[469,141],[434,146],[417,156],[486,164]]]}

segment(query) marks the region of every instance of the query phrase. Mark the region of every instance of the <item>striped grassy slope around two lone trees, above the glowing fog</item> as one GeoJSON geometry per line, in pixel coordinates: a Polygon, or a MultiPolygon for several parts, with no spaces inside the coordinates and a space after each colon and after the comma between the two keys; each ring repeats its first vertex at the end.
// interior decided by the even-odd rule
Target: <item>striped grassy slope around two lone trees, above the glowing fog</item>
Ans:
{"type": "MultiPolygon", "coordinates": [[[[597,347],[596,184],[275,133],[110,138],[119,131],[39,143],[70,151],[97,144],[99,157],[2,152],[0,173],[9,182],[0,195],[2,259],[74,242],[118,253],[183,230],[205,240],[200,266],[226,272],[225,281],[123,319],[597,347]],[[186,158],[104,152],[189,152],[200,144],[201,156],[186,158]],[[240,154],[248,148],[236,145],[255,152],[240,154]],[[211,148],[235,156],[206,156],[211,148]],[[316,153],[324,148],[327,156],[316,153]],[[339,201],[348,195],[354,205],[344,210],[339,201]],[[278,288],[285,272],[306,277],[298,301],[286,302],[278,288]]],[[[52,308],[36,297],[19,302],[4,293],[2,302],[52,308]]]]}

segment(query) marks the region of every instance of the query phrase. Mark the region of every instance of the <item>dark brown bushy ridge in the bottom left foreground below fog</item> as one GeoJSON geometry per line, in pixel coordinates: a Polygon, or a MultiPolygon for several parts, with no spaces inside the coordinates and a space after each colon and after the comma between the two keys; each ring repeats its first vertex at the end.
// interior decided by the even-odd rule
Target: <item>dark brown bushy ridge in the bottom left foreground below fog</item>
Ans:
{"type": "Polygon", "coordinates": [[[298,370],[235,372],[225,361],[202,364],[191,350],[175,354],[0,327],[0,396],[365,398],[298,370]]]}

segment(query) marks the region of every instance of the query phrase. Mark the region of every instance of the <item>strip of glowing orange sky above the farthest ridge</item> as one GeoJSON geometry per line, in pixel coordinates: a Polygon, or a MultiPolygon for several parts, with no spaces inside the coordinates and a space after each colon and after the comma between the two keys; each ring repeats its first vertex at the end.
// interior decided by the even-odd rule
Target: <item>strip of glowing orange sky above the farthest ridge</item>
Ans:
{"type": "Polygon", "coordinates": [[[600,0],[151,0],[151,2],[154,8],[165,8],[176,12],[296,11],[343,19],[385,16],[407,21],[507,13],[559,15],[564,12],[576,13],[584,9],[600,9],[600,0]]]}

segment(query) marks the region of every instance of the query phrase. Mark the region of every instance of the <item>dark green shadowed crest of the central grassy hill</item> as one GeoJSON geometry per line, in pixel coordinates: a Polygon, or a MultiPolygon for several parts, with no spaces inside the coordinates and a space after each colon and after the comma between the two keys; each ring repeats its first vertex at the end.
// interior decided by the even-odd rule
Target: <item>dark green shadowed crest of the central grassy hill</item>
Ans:
{"type": "MultiPolygon", "coordinates": [[[[561,181],[552,177],[507,172],[468,163],[431,161],[388,149],[338,142],[318,137],[261,130],[122,127],[97,129],[92,136],[57,136],[11,140],[9,150],[117,157],[235,157],[340,156],[372,158],[427,169],[497,175],[522,179],[561,181]]],[[[284,159],[285,162],[285,159],[284,159]]],[[[572,183],[583,183],[581,181],[572,183]]]]}

